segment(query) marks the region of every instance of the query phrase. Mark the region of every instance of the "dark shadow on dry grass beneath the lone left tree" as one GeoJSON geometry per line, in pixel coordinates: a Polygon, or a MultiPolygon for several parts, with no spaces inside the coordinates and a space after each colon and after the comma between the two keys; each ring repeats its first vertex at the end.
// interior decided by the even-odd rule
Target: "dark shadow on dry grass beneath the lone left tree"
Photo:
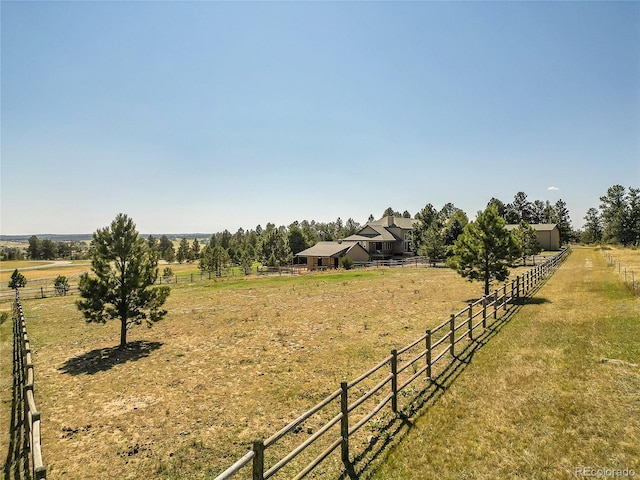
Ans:
{"type": "Polygon", "coordinates": [[[109,370],[122,363],[129,361],[135,362],[141,358],[148,357],[151,355],[151,352],[157,350],[162,345],[162,342],[145,342],[144,340],[139,340],[128,343],[124,348],[120,348],[119,346],[97,348],[68,359],[58,370],[69,375],[93,375],[94,373],[109,370]]]}

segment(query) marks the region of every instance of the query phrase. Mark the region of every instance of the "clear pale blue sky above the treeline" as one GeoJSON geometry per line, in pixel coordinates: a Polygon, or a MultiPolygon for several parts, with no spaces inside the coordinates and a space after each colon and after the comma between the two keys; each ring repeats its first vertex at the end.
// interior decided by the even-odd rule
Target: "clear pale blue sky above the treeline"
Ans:
{"type": "Polygon", "coordinates": [[[2,234],[640,186],[640,2],[1,2],[2,234]]]}

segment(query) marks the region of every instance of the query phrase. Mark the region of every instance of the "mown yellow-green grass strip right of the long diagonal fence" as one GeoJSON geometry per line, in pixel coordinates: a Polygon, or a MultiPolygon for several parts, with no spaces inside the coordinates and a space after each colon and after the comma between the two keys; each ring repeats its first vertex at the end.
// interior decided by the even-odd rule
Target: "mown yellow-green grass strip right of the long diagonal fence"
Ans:
{"type": "Polygon", "coordinates": [[[382,463],[367,478],[640,474],[640,299],[598,250],[575,249],[382,463]]]}

